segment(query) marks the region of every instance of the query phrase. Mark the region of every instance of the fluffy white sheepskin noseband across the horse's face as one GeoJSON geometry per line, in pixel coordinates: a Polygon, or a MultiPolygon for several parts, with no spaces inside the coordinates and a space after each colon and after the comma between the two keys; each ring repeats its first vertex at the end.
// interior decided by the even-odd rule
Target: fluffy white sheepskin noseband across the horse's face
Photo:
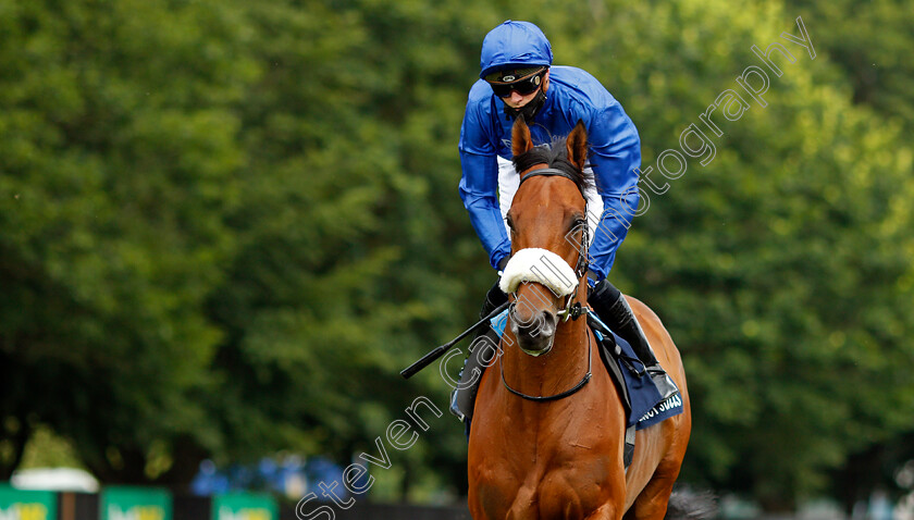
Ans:
{"type": "Polygon", "coordinates": [[[508,260],[498,286],[511,294],[522,282],[543,284],[558,297],[568,296],[578,288],[571,265],[558,255],[536,247],[521,249],[508,260]]]}

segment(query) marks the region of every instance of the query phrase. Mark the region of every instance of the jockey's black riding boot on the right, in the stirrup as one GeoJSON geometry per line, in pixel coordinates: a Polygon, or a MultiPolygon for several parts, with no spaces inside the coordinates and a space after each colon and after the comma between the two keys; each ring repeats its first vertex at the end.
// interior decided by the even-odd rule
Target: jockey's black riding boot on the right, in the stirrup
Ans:
{"type": "Polygon", "coordinates": [[[667,399],[678,394],[679,388],[676,387],[676,383],[667,375],[654,356],[654,350],[647,343],[647,337],[634,318],[634,312],[632,312],[622,293],[604,280],[596,285],[593,293],[588,297],[588,302],[609,329],[631,345],[634,355],[644,363],[647,374],[657,385],[663,398],[667,399]]]}

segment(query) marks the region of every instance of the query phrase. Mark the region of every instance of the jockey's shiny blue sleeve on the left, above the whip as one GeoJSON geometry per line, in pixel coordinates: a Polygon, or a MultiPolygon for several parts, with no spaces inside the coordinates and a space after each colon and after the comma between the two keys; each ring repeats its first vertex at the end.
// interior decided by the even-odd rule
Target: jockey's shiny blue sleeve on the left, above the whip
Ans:
{"type": "MultiPolygon", "coordinates": [[[[472,94],[472,92],[471,92],[472,94]]],[[[511,253],[511,243],[505,233],[502,210],[498,206],[498,163],[495,159],[492,128],[479,103],[467,103],[460,127],[460,166],[464,171],[459,191],[464,207],[470,213],[482,247],[489,253],[489,263],[498,269],[498,262],[511,253]]]]}

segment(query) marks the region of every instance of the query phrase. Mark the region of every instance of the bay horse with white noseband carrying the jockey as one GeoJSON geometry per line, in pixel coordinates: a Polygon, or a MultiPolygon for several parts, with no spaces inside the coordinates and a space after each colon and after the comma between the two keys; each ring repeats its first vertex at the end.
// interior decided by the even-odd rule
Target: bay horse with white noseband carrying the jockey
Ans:
{"type": "MultiPolygon", "coordinates": [[[[519,172],[507,218],[512,250],[505,275],[511,262],[533,257],[551,264],[540,274],[554,268],[555,275],[524,268],[531,275],[508,287],[503,276],[512,301],[508,325],[499,356],[480,383],[470,429],[468,497],[475,520],[660,519],[685,455],[692,422],[685,373],[657,315],[627,297],[679,387],[683,411],[638,431],[628,470],[621,397],[601,364],[586,320],[567,319],[588,297],[580,269],[588,242],[586,139],[579,122],[564,143],[553,144],[557,160],[519,172]],[[569,277],[573,287],[556,281],[569,277]]],[[[516,165],[523,163],[520,156],[533,153],[522,117],[512,127],[511,147],[516,165]]]]}

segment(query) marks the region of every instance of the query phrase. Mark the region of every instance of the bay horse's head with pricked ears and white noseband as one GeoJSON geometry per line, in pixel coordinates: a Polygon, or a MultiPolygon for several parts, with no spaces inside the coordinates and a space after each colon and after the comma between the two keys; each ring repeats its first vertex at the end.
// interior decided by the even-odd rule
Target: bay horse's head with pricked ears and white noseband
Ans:
{"type": "Polygon", "coordinates": [[[552,348],[558,321],[568,318],[586,271],[588,136],[579,122],[567,139],[534,147],[518,117],[511,143],[520,186],[507,215],[511,259],[502,290],[515,298],[510,327],[518,346],[540,356],[552,348]]]}

